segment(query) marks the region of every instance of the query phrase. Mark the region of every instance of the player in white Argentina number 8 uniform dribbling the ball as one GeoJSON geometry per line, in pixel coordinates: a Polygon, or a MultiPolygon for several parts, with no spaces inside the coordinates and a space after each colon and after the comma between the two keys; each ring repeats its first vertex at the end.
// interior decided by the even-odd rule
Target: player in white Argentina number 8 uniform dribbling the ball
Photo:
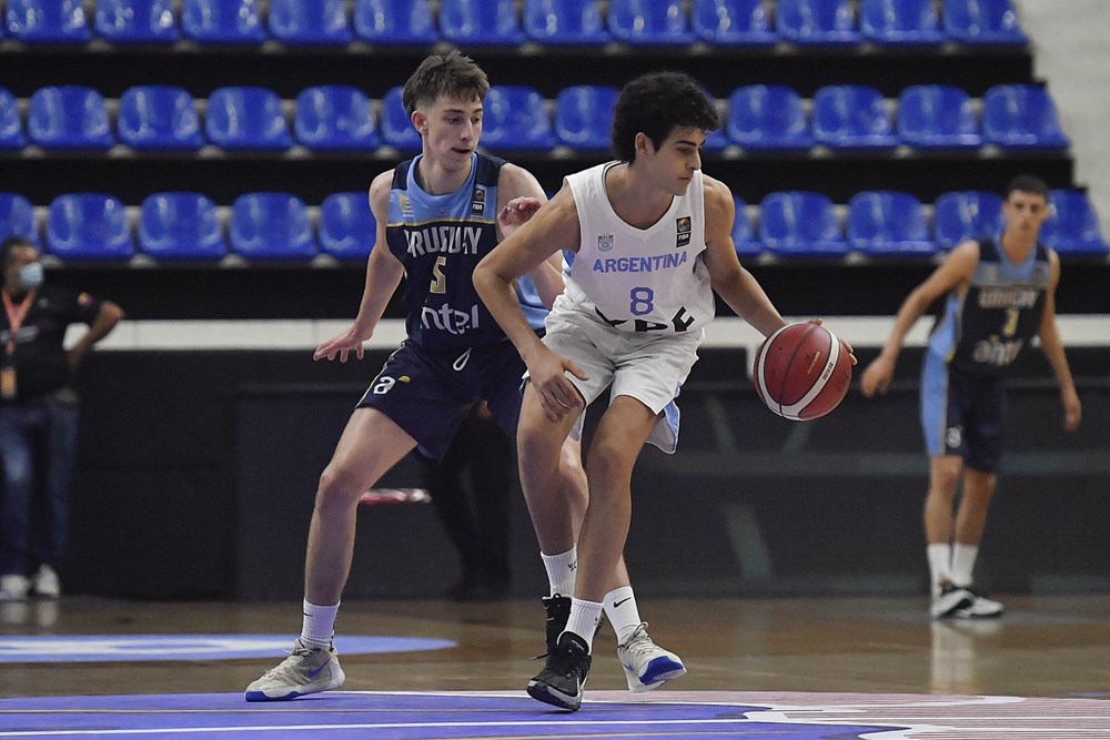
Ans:
{"type": "MultiPolygon", "coordinates": [[[[702,174],[700,149],[706,132],[717,128],[712,102],[688,75],[637,78],[622,91],[614,114],[618,160],[568,176],[548,204],[474,270],[478,294],[528,368],[517,445],[533,519],[543,516],[537,507],[544,501],[559,499],[552,491],[559,485],[564,439],[581,429],[585,407],[612,386],[586,456],[591,497],[571,616],[544,670],[528,683],[535,699],[564,709],[582,702],[608,575],[628,535],[633,466],[649,437],[674,452],[678,419],[672,402],[714,316],[713,291],[765,336],[786,324],[737,261],[731,193],[702,174]],[[541,339],[513,284],[559,251],[573,262],[566,261],[565,290],[541,339]]],[[[624,662],[636,660],[636,629],[618,635],[624,662]]],[[[667,656],[652,663],[646,680],[685,672],[667,656]]]]}

